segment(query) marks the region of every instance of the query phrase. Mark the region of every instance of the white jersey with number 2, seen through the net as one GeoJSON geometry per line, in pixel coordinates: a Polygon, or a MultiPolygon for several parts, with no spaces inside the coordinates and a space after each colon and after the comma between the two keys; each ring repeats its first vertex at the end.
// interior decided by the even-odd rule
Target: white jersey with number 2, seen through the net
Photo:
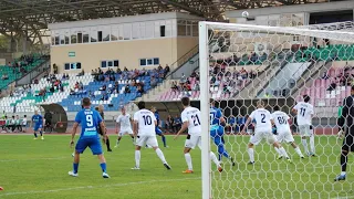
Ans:
{"type": "Polygon", "coordinates": [[[269,111],[264,108],[258,108],[253,111],[250,115],[251,119],[256,122],[256,130],[254,132],[272,132],[272,124],[270,119],[272,119],[269,111]]]}

